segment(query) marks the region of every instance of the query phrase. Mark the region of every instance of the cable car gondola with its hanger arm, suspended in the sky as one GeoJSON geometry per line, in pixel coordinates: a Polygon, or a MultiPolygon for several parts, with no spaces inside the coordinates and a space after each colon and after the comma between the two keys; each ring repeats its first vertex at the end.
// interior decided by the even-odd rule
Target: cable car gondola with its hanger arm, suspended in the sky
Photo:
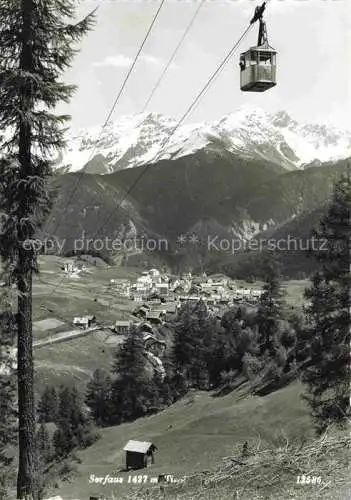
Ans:
{"type": "Polygon", "coordinates": [[[240,54],[240,89],[243,92],[264,92],[274,87],[276,82],[276,50],[268,44],[266,23],[263,12],[266,2],[256,7],[250,24],[259,21],[258,41],[240,54]]]}

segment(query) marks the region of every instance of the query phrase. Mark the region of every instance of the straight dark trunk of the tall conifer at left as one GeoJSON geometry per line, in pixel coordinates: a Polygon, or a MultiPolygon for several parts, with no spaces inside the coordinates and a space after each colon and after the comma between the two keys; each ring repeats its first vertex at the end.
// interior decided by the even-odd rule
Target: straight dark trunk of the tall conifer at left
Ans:
{"type": "MultiPolygon", "coordinates": [[[[22,50],[20,55],[20,70],[33,71],[32,54],[32,15],[33,1],[22,0],[23,13],[22,50]]],[[[22,117],[19,123],[19,150],[20,177],[28,180],[32,174],[31,165],[31,125],[29,112],[33,108],[30,82],[26,81],[21,92],[22,117]]],[[[27,218],[31,215],[30,208],[23,193],[20,207],[20,216],[27,218]]],[[[19,235],[20,242],[28,237],[19,235]]],[[[19,410],[19,466],[17,476],[17,498],[27,496],[37,500],[38,492],[35,481],[36,466],[35,452],[35,406],[34,406],[34,366],[33,366],[33,338],[32,338],[32,265],[33,256],[30,250],[20,246],[18,252],[18,268],[21,270],[17,278],[18,288],[18,410],[19,410]]]]}

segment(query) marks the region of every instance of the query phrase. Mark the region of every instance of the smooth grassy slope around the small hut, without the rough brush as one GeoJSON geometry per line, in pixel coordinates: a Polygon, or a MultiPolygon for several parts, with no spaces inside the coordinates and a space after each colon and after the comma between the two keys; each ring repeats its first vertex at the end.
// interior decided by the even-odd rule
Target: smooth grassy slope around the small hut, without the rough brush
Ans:
{"type": "MultiPolygon", "coordinates": [[[[301,443],[313,431],[300,394],[297,383],[262,398],[247,396],[245,389],[224,397],[190,394],[157,415],[103,430],[102,438],[79,454],[77,476],[60,487],[59,493],[72,499],[116,492],[116,487],[109,489],[108,485],[91,486],[88,479],[90,474],[127,478],[129,473],[119,469],[129,439],[150,440],[158,447],[156,463],[147,471],[150,477],[165,473],[178,478],[210,469],[222,457],[240,453],[245,441],[250,449],[259,444],[263,448],[278,446],[286,436],[291,443],[301,443]]],[[[130,486],[118,488],[122,494],[130,486]]]]}

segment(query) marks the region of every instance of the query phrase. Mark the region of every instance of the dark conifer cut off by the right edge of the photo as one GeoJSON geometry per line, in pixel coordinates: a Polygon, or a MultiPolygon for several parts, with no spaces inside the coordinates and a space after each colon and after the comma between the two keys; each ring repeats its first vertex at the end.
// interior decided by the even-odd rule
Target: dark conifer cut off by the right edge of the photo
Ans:
{"type": "Polygon", "coordinates": [[[319,431],[347,421],[350,390],[350,168],[336,184],[328,213],[314,233],[320,270],[306,290],[306,399],[319,431]]]}

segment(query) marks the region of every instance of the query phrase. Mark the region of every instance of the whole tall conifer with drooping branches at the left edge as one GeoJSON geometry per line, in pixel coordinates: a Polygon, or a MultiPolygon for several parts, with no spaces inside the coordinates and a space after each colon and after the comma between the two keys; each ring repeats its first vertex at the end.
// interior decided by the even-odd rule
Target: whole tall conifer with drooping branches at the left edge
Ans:
{"type": "Polygon", "coordinates": [[[73,86],[59,81],[87,33],[92,16],[77,24],[73,0],[0,0],[0,255],[18,290],[19,468],[17,496],[38,497],[32,356],[30,241],[50,210],[47,180],[53,153],[64,145],[67,116],[52,110],[68,101],[73,86]],[[26,243],[27,242],[27,243],[26,243]]]}

